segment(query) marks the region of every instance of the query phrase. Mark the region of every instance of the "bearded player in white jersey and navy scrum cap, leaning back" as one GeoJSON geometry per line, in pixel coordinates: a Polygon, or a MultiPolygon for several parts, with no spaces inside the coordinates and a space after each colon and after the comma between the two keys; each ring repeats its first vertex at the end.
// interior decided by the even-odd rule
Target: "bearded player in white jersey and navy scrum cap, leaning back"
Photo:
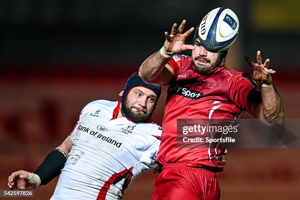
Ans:
{"type": "Polygon", "coordinates": [[[121,100],[87,104],[70,136],[34,173],[12,173],[8,186],[34,189],[61,172],[51,200],[121,199],[133,179],[156,166],[161,127],[150,117],[160,93],[134,73],[121,100]]]}

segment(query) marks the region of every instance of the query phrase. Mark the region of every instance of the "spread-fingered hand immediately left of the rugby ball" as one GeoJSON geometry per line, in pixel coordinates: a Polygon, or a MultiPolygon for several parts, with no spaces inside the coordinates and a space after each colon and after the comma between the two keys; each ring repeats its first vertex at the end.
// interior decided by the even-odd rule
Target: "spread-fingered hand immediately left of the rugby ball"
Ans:
{"type": "Polygon", "coordinates": [[[182,31],[185,27],[186,20],[181,22],[178,30],[176,31],[177,24],[175,23],[172,26],[171,35],[168,32],[165,32],[166,41],[165,41],[165,51],[172,53],[180,53],[183,50],[193,50],[195,47],[193,45],[186,45],[185,40],[188,38],[194,31],[194,27],[191,27],[188,31],[182,34],[182,31]]]}

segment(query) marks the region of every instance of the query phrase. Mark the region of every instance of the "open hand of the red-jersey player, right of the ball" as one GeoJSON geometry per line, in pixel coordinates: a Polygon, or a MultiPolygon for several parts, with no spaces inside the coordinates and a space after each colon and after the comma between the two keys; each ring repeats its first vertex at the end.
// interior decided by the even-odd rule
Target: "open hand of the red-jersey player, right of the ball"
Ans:
{"type": "Polygon", "coordinates": [[[268,58],[264,64],[262,63],[261,52],[257,51],[256,62],[254,63],[250,58],[245,57],[246,62],[251,67],[251,74],[243,74],[244,77],[251,78],[254,81],[259,81],[261,83],[271,84],[272,78],[271,74],[275,74],[275,71],[268,69],[270,64],[270,59],[268,58]]]}

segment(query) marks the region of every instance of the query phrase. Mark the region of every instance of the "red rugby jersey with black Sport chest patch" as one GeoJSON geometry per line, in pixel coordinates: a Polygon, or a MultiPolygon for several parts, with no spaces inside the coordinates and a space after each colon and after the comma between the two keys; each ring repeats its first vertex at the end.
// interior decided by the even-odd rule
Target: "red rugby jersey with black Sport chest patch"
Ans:
{"type": "Polygon", "coordinates": [[[199,75],[190,56],[175,55],[169,64],[174,70],[174,78],[168,85],[157,161],[222,171],[222,149],[177,147],[177,119],[239,118],[250,109],[249,92],[253,89],[259,91],[259,87],[254,81],[242,77],[241,72],[225,66],[199,75]]]}

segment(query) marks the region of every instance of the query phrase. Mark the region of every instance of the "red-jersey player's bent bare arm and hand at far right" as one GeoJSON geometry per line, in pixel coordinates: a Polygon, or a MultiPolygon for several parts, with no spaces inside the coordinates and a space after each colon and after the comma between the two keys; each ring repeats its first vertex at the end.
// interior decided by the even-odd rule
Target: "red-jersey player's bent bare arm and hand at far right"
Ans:
{"type": "Polygon", "coordinates": [[[261,103],[251,103],[250,113],[261,119],[268,125],[278,125],[284,118],[284,108],[281,98],[272,82],[271,74],[275,71],[268,69],[270,59],[262,63],[261,52],[258,50],[256,55],[257,63],[245,57],[247,63],[251,66],[251,74],[245,75],[257,81],[261,85],[261,103]]]}

